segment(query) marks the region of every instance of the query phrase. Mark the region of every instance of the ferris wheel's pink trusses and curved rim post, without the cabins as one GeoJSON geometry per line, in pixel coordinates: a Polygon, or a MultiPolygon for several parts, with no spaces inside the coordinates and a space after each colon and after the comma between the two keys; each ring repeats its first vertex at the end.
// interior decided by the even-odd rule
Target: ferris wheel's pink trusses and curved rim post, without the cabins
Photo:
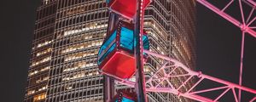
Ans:
{"type": "MultiPolygon", "coordinates": [[[[246,88],[241,86],[242,82],[242,61],[243,61],[243,49],[244,49],[244,36],[246,33],[250,34],[253,37],[256,37],[256,26],[255,24],[255,8],[256,3],[253,0],[230,0],[222,8],[218,8],[213,3],[209,2],[210,0],[197,0],[198,3],[210,8],[213,12],[223,17],[225,20],[230,21],[235,26],[239,27],[242,32],[242,42],[241,42],[241,65],[240,65],[240,76],[239,84],[227,82],[216,77],[210,77],[205,74],[202,74],[201,71],[191,71],[186,65],[183,65],[181,62],[176,59],[166,57],[161,54],[156,54],[148,50],[143,50],[142,43],[142,33],[143,32],[143,0],[138,0],[137,3],[137,16],[135,17],[135,40],[137,40],[136,46],[136,58],[137,58],[137,82],[131,82],[127,79],[120,79],[119,77],[114,77],[108,73],[102,72],[106,75],[108,82],[111,82],[110,79],[118,81],[121,84],[130,86],[137,89],[137,99],[139,102],[146,102],[146,91],[147,92],[160,92],[160,93],[170,93],[176,94],[177,96],[182,96],[189,99],[195,99],[197,101],[203,102],[216,102],[225,97],[226,94],[232,94],[233,99],[236,102],[241,101],[241,92],[251,94],[249,102],[256,101],[256,90],[252,88],[246,88]],[[226,9],[230,8],[233,3],[238,3],[241,13],[241,19],[237,19],[226,12],[226,9]],[[245,14],[244,6],[251,8],[249,14],[245,14]],[[155,71],[155,73],[150,77],[146,82],[143,77],[143,53],[149,54],[153,57],[165,60],[160,69],[155,71]],[[183,71],[183,72],[178,72],[183,71]],[[182,74],[181,74],[182,73],[182,74]],[[110,78],[111,77],[111,78],[110,78]],[[177,82],[179,78],[183,78],[183,81],[177,82]],[[195,84],[191,87],[186,87],[189,84],[189,81],[193,80],[195,84]],[[200,85],[204,81],[215,82],[219,87],[204,88],[201,89],[200,85]],[[196,89],[196,90],[195,90],[196,89]],[[207,97],[202,94],[214,93],[218,91],[217,97],[207,97]],[[238,91],[238,94],[237,94],[238,91]]],[[[109,83],[108,83],[109,84],[109,83]]],[[[106,86],[105,86],[106,87],[106,86]]],[[[110,86],[108,86],[110,88],[110,86]]],[[[106,90],[107,88],[105,88],[106,90]]],[[[107,89],[107,91],[109,91],[107,89]]],[[[110,92],[108,96],[110,97],[110,92]]],[[[244,96],[244,97],[249,97],[244,96]]],[[[106,96],[105,96],[106,97],[106,96]]]]}

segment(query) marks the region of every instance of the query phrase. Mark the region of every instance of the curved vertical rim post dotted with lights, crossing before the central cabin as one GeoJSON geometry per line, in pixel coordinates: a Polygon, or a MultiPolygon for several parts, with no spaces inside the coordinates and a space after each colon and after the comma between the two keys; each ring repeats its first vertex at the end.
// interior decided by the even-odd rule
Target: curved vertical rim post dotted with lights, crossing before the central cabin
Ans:
{"type": "Polygon", "coordinates": [[[137,62],[136,92],[138,102],[147,102],[145,79],[143,72],[143,0],[137,0],[137,14],[135,16],[134,41],[136,42],[135,56],[137,62]]]}

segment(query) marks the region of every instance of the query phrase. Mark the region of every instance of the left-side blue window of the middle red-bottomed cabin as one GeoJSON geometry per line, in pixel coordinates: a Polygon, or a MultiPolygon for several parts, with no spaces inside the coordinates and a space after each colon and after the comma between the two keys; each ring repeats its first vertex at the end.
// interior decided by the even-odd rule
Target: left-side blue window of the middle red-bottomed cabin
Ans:
{"type": "Polygon", "coordinates": [[[99,53],[98,53],[98,64],[99,65],[102,63],[103,59],[105,59],[108,56],[108,54],[110,54],[113,51],[113,49],[115,48],[115,46],[116,46],[115,37],[116,37],[116,31],[114,31],[113,34],[111,35],[111,37],[108,37],[108,40],[106,40],[106,42],[104,42],[102,44],[102,47],[100,48],[99,53]]]}

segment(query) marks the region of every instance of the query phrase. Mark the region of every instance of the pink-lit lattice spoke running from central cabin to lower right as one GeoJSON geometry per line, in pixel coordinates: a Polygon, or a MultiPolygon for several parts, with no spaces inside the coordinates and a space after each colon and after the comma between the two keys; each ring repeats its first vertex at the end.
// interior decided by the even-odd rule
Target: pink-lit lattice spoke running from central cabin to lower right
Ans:
{"type": "MultiPolygon", "coordinates": [[[[221,79],[218,79],[216,77],[210,77],[207,76],[205,74],[202,74],[200,71],[191,71],[188,67],[186,67],[186,65],[183,65],[181,62],[177,61],[176,59],[172,59],[169,57],[166,57],[165,55],[161,55],[161,54],[155,54],[153,52],[150,52],[148,50],[144,50],[143,51],[146,54],[149,54],[151,56],[154,56],[156,58],[159,59],[164,59],[166,60],[166,63],[163,64],[160,69],[158,69],[158,71],[155,71],[155,73],[149,77],[148,81],[146,82],[147,86],[146,86],[146,91],[147,92],[159,92],[159,93],[170,93],[170,94],[176,94],[177,96],[183,96],[185,98],[189,98],[189,99],[195,99],[198,101],[204,101],[204,102],[213,102],[213,101],[218,101],[218,99],[221,99],[224,97],[225,94],[227,94],[229,91],[232,92],[233,96],[234,96],[234,100],[236,100],[236,102],[238,102],[238,98],[236,95],[236,89],[240,89],[243,92],[247,92],[248,94],[253,94],[256,95],[256,90],[252,89],[252,88],[246,88],[246,87],[242,87],[240,85],[237,85],[235,83],[231,83],[231,82],[227,82],[221,79]],[[183,70],[186,73],[175,73],[175,70],[183,70]],[[175,74],[174,74],[175,73],[175,74]],[[186,78],[184,80],[184,82],[182,82],[181,84],[177,85],[176,82],[171,82],[170,79],[173,78],[181,78],[187,76],[189,78],[186,78]],[[195,77],[197,79],[199,79],[198,81],[195,81],[195,84],[192,85],[190,88],[183,90],[181,89],[182,87],[184,87],[184,85],[186,85],[187,83],[189,83],[189,80],[191,79],[191,77],[195,77]],[[163,81],[164,80],[164,81],[163,81]],[[207,89],[201,89],[201,90],[196,90],[196,91],[192,91],[195,90],[195,88],[198,88],[200,83],[203,83],[203,80],[209,80],[212,82],[217,82],[220,85],[223,85],[221,87],[216,87],[216,88],[207,88],[207,89]],[[168,82],[169,81],[169,82],[168,82]],[[160,83],[160,84],[159,84],[160,83]],[[224,89],[224,91],[218,95],[217,98],[215,99],[211,99],[211,98],[207,98],[204,96],[201,96],[200,94],[203,93],[211,93],[213,91],[219,91],[224,89]]],[[[114,77],[112,75],[109,75],[108,73],[103,73],[109,77],[114,77]]],[[[134,88],[135,82],[131,82],[129,80],[125,80],[125,79],[120,79],[118,77],[114,77],[119,83],[130,86],[132,88],[134,88]]],[[[251,101],[253,102],[255,100],[255,97],[253,97],[253,99],[251,99],[251,101]]]]}

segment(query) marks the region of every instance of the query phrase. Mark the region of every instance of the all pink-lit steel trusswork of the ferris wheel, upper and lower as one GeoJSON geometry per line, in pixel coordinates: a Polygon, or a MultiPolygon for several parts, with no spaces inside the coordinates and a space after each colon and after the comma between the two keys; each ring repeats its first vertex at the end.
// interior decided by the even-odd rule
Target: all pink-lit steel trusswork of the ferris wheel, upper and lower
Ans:
{"type": "MultiPolygon", "coordinates": [[[[215,1],[216,0],[212,0],[215,1]]],[[[147,92],[160,92],[160,93],[169,93],[176,94],[177,96],[182,96],[189,99],[195,99],[197,101],[203,102],[216,102],[219,99],[223,99],[226,94],[232,94],[236,102],[241,100],[241,91],[247,94],[252,94],[252,99],[249,102],[256,101],[256,90],[252,88],[246,88],[241,86],[242,82],[242,60],[243,60],[243,49],[244,49],[244,36],[246,33],[250,34],[253,37],[256,37],[256,25],[253,25],[256,20],[256,16],[253,16],[256,3],[253,0],[229,0],[228,3],[222,8],[218,8],[216,5],[211,3],[210,0],[197,0],[198,3],[206,6],[211,9],[216,14],[223,17],[225,20],[230,21],[235,26],[239,27],[242,32],[241,40],[241,67],[240,67],[240,79],[239,85],[232,82],[227,82],[216,77],[210,77],[203,74],[201,71],[192,71],[186,65],[183,65],[177,59],[172,59],[166,57],[165,55],[156,54],[148,50],[143,50],[144,53],[149,54],[155,58],[165,60],[164,64],[161,65],[158,71],[146,80],[146,91],[147,92]],[[238,3],[240,8],[241,19],[237,19],[235,16],[227,13],[226,10],[231,7],[233,3],[238,3]],[[251,8],[249,14],[244,13],[244,6],[251,8]],[[179,80],[182,79],[182,80],[179,80]],[[200,89],[200,85],[204,81],[211,81],[218,83],[218,87],[200,89]],[[191,81],[195,82],[193,85],[191,81]],[[236,93],[238,91],[238,94],[236,93]],[[209,98],[201,94],[214,93],[215,91],[220,91],[215,98],[209,98]]],[[[131,82],[127,79],[120,79],[109,75],[108,73],[102,72],[102,74],[107,75],[108,77],[113,77],[116,81],[131,88],[135,87],[135,82],[131,82]]]]}

